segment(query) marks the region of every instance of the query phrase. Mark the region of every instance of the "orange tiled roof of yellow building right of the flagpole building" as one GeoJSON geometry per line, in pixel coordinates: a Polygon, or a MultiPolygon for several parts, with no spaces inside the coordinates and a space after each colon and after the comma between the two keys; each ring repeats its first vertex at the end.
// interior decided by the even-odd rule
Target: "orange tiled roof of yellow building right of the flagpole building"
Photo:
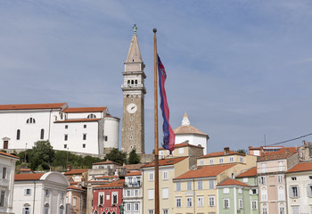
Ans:
{"type": "Polygon", "coordinates": [[[226,169],[234,167],[236,164],[223,164],[216,166],[205,166],[195,170],[189,170],[185,174],[174,178],[176,179],[186,179],[186,178],[195,178],[195,177],[216,177],[221,172],[224,172],[226,169]]]}

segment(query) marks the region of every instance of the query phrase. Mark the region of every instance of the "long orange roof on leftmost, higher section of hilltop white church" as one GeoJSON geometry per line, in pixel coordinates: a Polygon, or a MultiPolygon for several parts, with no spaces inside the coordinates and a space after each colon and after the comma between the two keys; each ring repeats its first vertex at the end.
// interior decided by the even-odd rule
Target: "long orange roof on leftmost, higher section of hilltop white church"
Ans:
{"type": "Polygon", "coordinates": [[[35,110],[35,109],[62,109],[67,103],[42,103],[42,104],[7,104],[0,105],[1,110],[35,110]]]}

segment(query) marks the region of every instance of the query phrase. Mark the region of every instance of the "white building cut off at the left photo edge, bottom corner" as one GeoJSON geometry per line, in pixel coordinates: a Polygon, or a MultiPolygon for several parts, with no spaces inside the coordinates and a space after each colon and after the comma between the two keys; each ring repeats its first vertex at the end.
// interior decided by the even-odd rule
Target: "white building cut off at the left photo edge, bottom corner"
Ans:
{"type": "Polygon", "coordinates": [[[0,152],[0,213],[12,213],[16,161],[19,157],[0,152]]]}

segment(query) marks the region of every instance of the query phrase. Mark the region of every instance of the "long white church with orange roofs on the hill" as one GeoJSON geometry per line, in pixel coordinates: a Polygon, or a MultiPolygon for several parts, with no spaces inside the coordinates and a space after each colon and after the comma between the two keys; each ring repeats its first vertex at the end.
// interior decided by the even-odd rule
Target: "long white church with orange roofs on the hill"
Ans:
{"type": "Polygon", "coordinates": [[[119,118],[106,107],[0,105],[0,149],[25,150],[39,140],[49,140],[54,150],[101,155],[118,148],[119,118]]]}

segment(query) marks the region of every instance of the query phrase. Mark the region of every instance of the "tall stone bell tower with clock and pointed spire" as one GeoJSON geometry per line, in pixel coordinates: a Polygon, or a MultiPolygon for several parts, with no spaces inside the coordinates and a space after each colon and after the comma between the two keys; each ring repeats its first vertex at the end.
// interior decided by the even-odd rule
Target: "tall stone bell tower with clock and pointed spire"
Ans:
{"type": "Polygon", "coordinates": [[[144,62],[142,61],[140,47],[137,42],[136,29],[134,25],[127,60],[125,62],[122,111],[122,135],[121,152],[144,153],[144,62]]]}

